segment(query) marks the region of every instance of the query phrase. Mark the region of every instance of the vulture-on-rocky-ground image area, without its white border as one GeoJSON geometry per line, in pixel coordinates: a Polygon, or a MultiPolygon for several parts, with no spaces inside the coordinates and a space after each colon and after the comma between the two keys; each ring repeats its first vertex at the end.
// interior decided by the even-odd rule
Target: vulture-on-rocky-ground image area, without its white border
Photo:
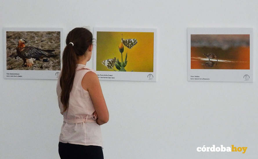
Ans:
{"type": "Polygon", "coordinates": [[[60,32],[6,32],[7,70],[60,70],[60,32]]]}

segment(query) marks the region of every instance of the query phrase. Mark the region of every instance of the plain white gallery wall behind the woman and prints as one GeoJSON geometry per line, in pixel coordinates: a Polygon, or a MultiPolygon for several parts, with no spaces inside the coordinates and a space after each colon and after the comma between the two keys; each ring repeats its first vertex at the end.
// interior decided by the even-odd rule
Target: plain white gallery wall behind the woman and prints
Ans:
{"type": "MultiPolygon", "coordinates": [[[[257,8],[256,0],[1,0],[0,48],[2,27],[62,27],[64,38],[85,25],[157,28],[157,82],[101,81],[104,157],[257,158],[257,8]],[[254,82],[188,82],[187,27],[253,27],[254,82]],[[203,145],[248,149],[197,152],[203,145]]],[[[0,158],[59,158],[56,82],[3,79],[0,64],[0,158]]]]}

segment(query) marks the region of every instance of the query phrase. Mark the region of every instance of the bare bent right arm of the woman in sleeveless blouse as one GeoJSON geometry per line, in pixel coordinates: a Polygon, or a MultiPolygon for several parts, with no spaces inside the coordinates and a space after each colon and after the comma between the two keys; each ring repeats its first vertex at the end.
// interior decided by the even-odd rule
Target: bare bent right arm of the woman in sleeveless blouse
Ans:
{"type": "Polygon", "coordinates": [[[108,108],[96,73],[92,71],[86,73],[81,81],[81,86],[90,94],[93,106],[98,116],[97,123],[99,125],[107,123],[109,120],[108,108]]]}

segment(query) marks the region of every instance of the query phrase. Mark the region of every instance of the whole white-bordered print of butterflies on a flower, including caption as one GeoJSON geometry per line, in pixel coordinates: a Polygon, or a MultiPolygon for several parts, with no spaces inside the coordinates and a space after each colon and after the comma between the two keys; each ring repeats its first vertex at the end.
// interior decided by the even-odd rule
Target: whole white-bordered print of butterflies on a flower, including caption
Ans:
{"type": "Polygon", "coordinates": [[[156,29],[94,28],[93,67],[101,80],[156,81],[156,29]]]}

